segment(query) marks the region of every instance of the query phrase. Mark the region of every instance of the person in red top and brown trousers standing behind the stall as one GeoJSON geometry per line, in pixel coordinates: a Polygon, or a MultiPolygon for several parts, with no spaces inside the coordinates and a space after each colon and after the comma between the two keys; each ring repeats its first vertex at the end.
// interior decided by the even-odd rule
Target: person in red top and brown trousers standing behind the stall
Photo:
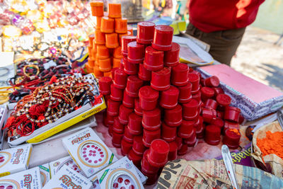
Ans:
{"type": "Polygon", "coordinates": [[[209,54],[230,65],[246,26],[255,21],[265,0],[189,0],[186,33],[207,42],[209,54]]]}

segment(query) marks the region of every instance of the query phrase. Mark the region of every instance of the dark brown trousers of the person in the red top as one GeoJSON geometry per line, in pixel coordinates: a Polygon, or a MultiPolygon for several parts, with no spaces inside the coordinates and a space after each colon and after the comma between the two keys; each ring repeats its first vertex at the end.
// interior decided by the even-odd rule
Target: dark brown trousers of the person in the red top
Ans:
{"type": "Polygon", "coordinates": [[[230,66],[231,59],[241,43],[245,30],[246,28],[238,28],[204,33],[189,23],[186,33],[209,44],[209,54],[222,64],[230,66]]]}

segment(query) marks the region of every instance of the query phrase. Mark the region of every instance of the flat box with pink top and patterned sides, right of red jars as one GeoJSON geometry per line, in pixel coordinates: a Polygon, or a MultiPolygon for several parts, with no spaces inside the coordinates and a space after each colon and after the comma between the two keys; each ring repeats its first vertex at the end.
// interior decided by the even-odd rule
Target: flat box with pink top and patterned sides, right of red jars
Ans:
{"type": "Polygon", "coordinates": [[[261,84],[225,64],[198,67],[205,78],[218,76],[220,86],[231,98],[231,105],[240,108],[246,120],[255,120],[273,113],[283,105],[283,93],[261,84]]]}

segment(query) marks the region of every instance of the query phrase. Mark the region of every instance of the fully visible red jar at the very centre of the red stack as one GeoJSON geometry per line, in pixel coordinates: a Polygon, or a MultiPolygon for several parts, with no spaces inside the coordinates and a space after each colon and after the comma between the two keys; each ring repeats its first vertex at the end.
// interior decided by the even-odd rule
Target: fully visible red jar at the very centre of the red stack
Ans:
{"type": "Polygon", "coordinates": [[[139,105],[142,110],[153,110],[156,108],[159,93],[150,86],[139,89],[139,105]]]}

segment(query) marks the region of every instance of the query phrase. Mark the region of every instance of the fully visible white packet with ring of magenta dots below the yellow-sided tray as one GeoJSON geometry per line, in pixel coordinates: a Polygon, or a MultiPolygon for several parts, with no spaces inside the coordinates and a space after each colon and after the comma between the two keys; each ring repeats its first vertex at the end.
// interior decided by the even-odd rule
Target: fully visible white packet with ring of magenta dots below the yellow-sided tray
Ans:
{"type": "Polygon", "coordinates": [[[112,151],[90,127],[64,137],[62,142],[87,178],[117,161],[112,151]]]}

